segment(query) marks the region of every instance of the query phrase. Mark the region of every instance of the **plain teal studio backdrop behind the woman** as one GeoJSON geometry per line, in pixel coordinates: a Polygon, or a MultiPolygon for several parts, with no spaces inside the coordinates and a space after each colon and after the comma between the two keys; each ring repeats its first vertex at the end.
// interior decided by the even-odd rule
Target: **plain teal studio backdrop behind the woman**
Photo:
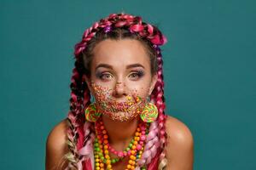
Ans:
{"type": "MultiPolygon", "coordinates": [[[[195,140],[195,170],[256,169],[256,1],[0,1],[1,169],[44,169],[69,109],[73,46],[111,13],[168,38],[166,113],[195,140]]],[[[172,145],[170,145],[172,147],[172,145]]]]}

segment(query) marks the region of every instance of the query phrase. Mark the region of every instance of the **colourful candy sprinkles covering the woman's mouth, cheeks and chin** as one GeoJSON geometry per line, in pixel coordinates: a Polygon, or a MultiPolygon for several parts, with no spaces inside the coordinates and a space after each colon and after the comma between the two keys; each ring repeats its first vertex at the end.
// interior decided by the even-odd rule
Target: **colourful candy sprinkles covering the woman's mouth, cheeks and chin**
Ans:
{"type": "MultiPolygon", "coordinates": [[[[117,83],[120,85],[121,83],[117,83]]],[[[125,96],[125,101],[113,98],[113,90],[91,83],[99,112],[113,121],[126,122],[138,116],[146,105],[146,99],[138,95],[137,90],[125,96]]]]}

